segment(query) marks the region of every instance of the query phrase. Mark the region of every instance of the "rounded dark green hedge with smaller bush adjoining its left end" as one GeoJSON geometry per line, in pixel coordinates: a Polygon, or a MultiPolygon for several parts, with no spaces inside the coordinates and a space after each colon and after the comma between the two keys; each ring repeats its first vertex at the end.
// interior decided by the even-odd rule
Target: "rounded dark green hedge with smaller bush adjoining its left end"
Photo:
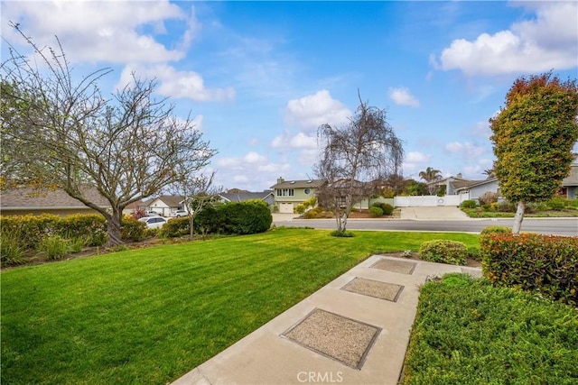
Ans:
{"type": "MultiPolygon", "coordinates": [[[[195,234],[256,234],[271,227],[273,216],[261,200],[229,202],[206,206],[195,216],[195,234]]],[[[176,237],[190,234],[189,218],[172,219],[163,225],[159,236],[176,237]]]]}

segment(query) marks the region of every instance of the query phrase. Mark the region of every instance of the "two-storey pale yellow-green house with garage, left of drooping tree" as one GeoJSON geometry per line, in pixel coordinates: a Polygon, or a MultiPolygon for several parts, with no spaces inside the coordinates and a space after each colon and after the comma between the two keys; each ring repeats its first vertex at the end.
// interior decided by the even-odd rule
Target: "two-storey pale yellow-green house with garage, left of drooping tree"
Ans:
{"type": "Polygon", "coordinates": [[[325,183],[322,179],[284,180],[278,178],[271,188],[275,197],[275,207],[279,213],[293,214],[294,207],[315,197],[315,189],[325,183]]]}

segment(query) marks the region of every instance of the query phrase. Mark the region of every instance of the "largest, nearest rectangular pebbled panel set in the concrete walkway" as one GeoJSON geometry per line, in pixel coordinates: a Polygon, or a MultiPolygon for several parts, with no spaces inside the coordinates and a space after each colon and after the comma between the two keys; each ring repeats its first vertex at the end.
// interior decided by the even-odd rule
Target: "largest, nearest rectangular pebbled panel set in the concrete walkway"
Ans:
{"type": "Polygon", "coordinates": [[[315,353],[361,369],[379,332],[377,326],[316,308],[283,335],[315,353]]]}

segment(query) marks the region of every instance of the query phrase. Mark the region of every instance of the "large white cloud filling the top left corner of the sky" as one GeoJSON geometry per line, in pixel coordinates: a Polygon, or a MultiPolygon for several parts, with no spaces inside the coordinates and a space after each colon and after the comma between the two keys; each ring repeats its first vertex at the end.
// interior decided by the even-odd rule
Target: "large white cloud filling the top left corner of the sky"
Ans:
{"type": "MultiPolygon", "coordinates": [[[[5,2],[3,21],[20,23],[39,46],[54,46],[58,36],[71,62],[151,63],[181,60],[199,28],[194,9],[186,14],[169,1],[5,2]],[[49,16],[50,15],[50,16],[49,16]],[[167,48],[157,39],[164,22],[181,23],[182,41],[167,48]]],[[[16,32],[3,36],[17,44],[16,32]]]]}

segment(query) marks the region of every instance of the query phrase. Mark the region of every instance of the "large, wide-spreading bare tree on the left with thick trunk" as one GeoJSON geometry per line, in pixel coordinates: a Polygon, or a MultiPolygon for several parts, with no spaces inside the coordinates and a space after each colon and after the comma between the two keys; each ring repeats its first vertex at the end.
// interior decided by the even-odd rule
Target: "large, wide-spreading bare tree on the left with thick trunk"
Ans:
{"type": "Polygon", "coordinates": [[[58,38],[58,49],[46,52],[21,35],[42,66],[11,48],[0,68],[2,81],[21,100],[16,113],[2,109],[3,169],[12,172],[5,178],[62,188],[105,216],[108,246],[120,244],[127,205],[194,174],[216,151],[190,118],[176,117],[167,99],[154,99],[154,80],[134,75],[131,84],[105,98],[98,81],[109,69],[76,81],[58,38]],[[110,209],[87,197],[87,185],[98,189],[110,209]]]}

